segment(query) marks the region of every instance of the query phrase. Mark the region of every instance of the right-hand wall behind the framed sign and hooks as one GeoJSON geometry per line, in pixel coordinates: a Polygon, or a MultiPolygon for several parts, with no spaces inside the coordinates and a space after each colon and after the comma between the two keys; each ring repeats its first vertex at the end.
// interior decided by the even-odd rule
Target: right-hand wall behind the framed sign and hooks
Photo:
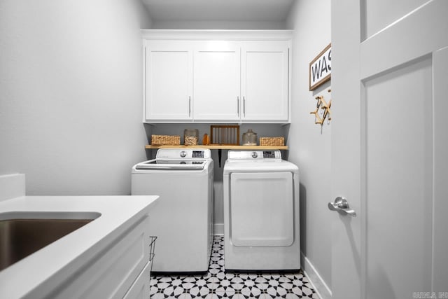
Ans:
{"type": "MultiPolygon", "coordinates": [[[[331,125],[314,124],[309,112],[316,109],[316,95],[330,99],[325,83],[309,91],[309,62],[331,41],[330,0],[297,0],[288,16],[287,27],[294,29],[292,121],[288,134],[288,160],[300,169],[300,228],[302,260],[306,272],[316,272],[321,282],[331,286],[331,237],[329,211],[331,125]],[[311,269],[310,265],[314,266],[311,269]]],[[[337,105],[337,101],[333,105],[337,105]]],[[[323,298],[328,288],[320,288],[323,298]]]]}

